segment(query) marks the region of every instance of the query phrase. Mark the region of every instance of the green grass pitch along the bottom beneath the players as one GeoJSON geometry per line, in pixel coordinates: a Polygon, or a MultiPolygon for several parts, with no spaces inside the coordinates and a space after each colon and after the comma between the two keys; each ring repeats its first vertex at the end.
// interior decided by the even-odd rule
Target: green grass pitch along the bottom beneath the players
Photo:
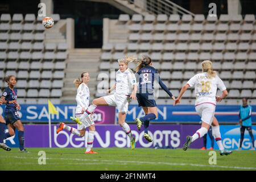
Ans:
{"type": "Polygon", "coordinates": [[[99,154],[86,155],[84,148],[28,148],[29,154],[0,150],[0,170],[256,170],[256,151],[217,153],[210,165],[209,151],[154,148],[94,148],[99,154]],[[39,165],[39,151],[46,152],[46,165],[39,165]]]}

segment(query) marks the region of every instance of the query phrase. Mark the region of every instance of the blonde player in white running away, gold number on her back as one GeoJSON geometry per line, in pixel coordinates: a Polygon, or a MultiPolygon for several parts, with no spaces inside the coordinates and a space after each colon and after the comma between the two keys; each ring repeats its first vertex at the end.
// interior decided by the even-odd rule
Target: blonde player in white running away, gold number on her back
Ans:
{"type": "Polygon", "coordinates": [[[197,114],[201,117],[202,125],[192,137],[187,137],[187,142],[183,145],[183,150],[187,150],[192,142],[207,134],[209,127],[212,126],[212,134],[220,149],[220,155],[229,155],[232,151],[225,150],[223,147],[220,126],[218,125],[217,119],[214,117],[216,101],[221,102],[223,98],[228,96],[228,91],[226,90],[224,82],[216,75],[216,72],[213,71],[211,61],[203,61],[202,71],[203,73],[199,73],[190,78],[187,84],[180,90],[179,96],[174,101],[174,105],[179,104],[185,90],[187,90],[189,86],[195,87],[195,108],[197,114]],[[217,88],[221,90],[222,96],[216,96],[217,88]]]}

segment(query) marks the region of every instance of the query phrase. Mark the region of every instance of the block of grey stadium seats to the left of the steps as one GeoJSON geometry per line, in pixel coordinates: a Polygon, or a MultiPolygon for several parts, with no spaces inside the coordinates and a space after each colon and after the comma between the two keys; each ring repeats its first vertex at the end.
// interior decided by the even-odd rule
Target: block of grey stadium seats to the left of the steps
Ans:
{"type": "MultiPolygon", "coordinates": [[[[52,14],[55,24],[59,14],[52,14]]],[[[0,16],[0,87],[3,77],[18,79],[20,104],[47,104],[50,98],[60,104],[67,44],[47,42],[42,18],[34,14],[1,14],[0,16]]]]}

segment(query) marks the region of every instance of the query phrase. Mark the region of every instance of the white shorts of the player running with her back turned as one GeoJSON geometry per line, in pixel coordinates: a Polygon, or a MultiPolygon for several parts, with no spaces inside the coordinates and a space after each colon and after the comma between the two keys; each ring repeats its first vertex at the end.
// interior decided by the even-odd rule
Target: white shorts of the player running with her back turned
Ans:
{"type": "Polygon", "coordinates": [[[208,125],[212,125],[216,106],[214,104],[201,103],[195,107],[197,114],[199,114],[201,117],[201,121],[207,123],[208,125]]]}

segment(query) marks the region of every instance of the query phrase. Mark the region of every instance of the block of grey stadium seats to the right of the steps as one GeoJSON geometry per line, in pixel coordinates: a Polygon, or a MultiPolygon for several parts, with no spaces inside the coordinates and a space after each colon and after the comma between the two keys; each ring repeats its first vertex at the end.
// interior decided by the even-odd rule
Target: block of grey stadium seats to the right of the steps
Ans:
{"type": "MultiPolygon", "coordinates": [[[[102,46],[100,73],[118,68],[123,55],[146,53],[169,89],[177,96],[191,76],[201,72],[200,63],[212,60],[214,69],[228,87],[222,104],[238,104],[242,97],[256,99],[256,25],[254,15],[206,17],[204,15],[120,15],[129,30],[126,42],[102,46]]],[[[130,68],[135,65],[131,64],[130,68]]],[[[100,81],[99,81],[100,82],[100,81]]],[[[108,81],[106,81],[108,82],[108,81]]],[[[101,94],[96,94],[101,96],[101,94]]],[[[184,95],[184,104],[193,104],[193,93],[184,95]]],[[[168,96],[159,90],[159,103],[168,96]]]]}

